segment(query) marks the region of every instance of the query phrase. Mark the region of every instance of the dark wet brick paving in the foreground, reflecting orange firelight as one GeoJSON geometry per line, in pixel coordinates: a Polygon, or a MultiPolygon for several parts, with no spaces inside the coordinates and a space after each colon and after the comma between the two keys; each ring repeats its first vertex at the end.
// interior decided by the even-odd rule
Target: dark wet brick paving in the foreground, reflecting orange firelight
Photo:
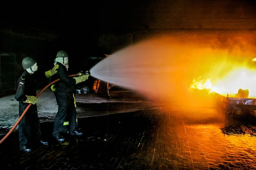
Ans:
{"type": "MultiPolygon", "coordinates": [[[[17,133],[0,146],[1,167],[26,170],[256,169],[256,117],[215,109],[154,108],[79,119],[82,137],[18,151],[17,133]]],[[[52,122],[42,123],[50,138],[52,122]]],[[[1,168],[2,169],[2,168],[1,168]]]]}

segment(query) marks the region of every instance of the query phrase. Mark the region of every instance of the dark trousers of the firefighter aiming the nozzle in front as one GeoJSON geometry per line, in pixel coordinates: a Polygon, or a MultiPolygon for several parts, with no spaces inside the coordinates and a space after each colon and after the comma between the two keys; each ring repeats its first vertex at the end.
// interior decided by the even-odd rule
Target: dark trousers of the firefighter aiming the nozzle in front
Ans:
{"type": "Polygon", "coordinates": [[[53,136],[59,136],[64,131],[64,122],[69,122],[70,132],[76,131],[76,107],[73,93],[58,93],[56,96],[58,113],[54,119],[53,136]]]}

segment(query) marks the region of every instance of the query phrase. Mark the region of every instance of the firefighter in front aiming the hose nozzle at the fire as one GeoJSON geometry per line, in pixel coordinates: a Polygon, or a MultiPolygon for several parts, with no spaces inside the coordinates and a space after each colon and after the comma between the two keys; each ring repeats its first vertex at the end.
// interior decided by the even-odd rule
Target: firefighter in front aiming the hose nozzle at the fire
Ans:
{"type": "Polygon", "coordinates": [[[58,51],[57,54],[57,65],[59,65],[58,73],[55,74],[57,79],[60,81],[56,82],[57,90],[57,104],[58,104],[58,113],[55,116],[54,127],[52,135],[59,141],[64,141],[64,138],[61,136],[63,131],[63,124],[66,121],[66,117],[69,121],[70,126],[70,135],[82,135],[82,133],[77,131],[76,123],[76,107],[74,104],[73,96],[73,86],[79,82],[84,82],[88,79],[89,75],[83,75],[81,77],[69,77],[66,65],[68,64],[68,55],[65,51],[58,51]]]}

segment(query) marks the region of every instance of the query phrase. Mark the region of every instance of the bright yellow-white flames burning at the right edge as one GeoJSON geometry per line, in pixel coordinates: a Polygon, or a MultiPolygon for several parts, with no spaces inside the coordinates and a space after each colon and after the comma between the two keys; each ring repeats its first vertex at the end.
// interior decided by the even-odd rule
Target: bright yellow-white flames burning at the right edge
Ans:
{"type": "Polygon", "coordinates": [[[249,97],[256,97],[256,70],[240,68],[230,71],[221,79],[202,79],[198,77],[193,80],[192,89],[208,89],[209,93],[215,92],[224,96],[236,96],[239,89],[249,90],[249,97]]]}

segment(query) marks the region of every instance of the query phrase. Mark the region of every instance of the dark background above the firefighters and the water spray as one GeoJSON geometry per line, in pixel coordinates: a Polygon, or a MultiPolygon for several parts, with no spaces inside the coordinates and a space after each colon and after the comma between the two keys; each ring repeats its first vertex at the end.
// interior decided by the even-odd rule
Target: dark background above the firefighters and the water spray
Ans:
{"type": "MultiPolygon", "coordinates": [[[[249,0],[2,2],[0,95],[15,93],[23,72],[21,61],[27,56],[37,60],[38,72],[43,73],[64,50],[70,56],[70,72],[77,73],[90,70],[103,54],[155,34],[254,35],[255,4],[249,0]]],[[[47,83],[38,83],[38,88],[47,83]]]]}

